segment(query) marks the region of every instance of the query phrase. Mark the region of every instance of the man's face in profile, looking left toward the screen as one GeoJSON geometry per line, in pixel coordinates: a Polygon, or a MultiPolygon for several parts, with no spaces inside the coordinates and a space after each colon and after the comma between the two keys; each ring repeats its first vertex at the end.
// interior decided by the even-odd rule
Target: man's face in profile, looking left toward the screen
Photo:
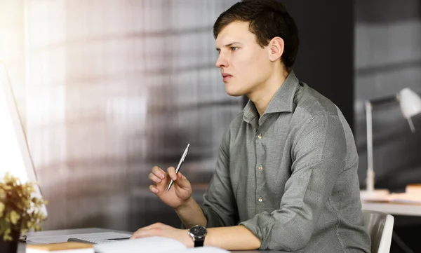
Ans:
{"type": "Polygon", "coordinates": [[[262,89],[271,65],[267,47],[262,48],[249,22],[232,22],[216,38],[219,52],[215,66],[220,68],[228,95],[249,95],[262,89]]]}

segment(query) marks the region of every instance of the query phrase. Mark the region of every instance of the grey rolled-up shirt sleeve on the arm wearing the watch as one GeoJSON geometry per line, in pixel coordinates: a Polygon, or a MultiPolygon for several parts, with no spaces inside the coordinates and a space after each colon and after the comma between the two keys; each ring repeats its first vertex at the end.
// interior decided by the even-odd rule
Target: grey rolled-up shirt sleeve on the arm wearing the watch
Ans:
{"type": "Polygon", "coordinates": [[[279,210],[240,223],[260,238],[260,249],[295,252],[305,247],[345,166],[346,139],[338,116],[317,114],[297,136],[279,210]]]}

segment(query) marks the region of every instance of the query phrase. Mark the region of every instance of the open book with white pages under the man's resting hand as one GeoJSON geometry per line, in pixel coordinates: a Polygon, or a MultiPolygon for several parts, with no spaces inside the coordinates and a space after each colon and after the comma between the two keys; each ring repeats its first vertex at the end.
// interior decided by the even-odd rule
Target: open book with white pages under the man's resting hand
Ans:
{"type": "Polygon", "coordinates": [[[217,247],[195,247],[187,248],[175,239],[162,237],[149,237],[131,240],[121,240],[119,242],[106,242],[94,245],[95,252],[98,253],[228,253],[225,249],[217,247]]]}

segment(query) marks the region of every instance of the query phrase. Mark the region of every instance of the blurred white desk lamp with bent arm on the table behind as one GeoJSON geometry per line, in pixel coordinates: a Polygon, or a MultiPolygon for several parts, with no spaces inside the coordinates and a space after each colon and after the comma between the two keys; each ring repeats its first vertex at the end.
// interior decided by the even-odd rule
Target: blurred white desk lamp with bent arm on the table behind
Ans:
{"type": "Polygon", "coordinates": [[[366,190],[361,191],[361,200],[381,200],[389,195],[387,189],[374,189],[373,170],[373,107],[389,102],[398,101],[403,117],[408,121],[411,132],[415,132],[415,127],[411,118],[421,113],[421,98],[417,93],[409,88],[403,88],[399,93],[389,97],[377,98],[366,101],[366,122],[367,122],[367,176],[366,190]]]}

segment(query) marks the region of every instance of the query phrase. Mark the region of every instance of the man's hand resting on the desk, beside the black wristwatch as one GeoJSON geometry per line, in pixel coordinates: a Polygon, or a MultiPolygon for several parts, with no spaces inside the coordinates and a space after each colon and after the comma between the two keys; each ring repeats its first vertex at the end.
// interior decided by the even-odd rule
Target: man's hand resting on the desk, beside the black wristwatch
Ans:
{"type": "Polygon", "coordinates": [[[146,238],[151,236],[173,238],[184,244],[186,247],[194,246],[194,242],[189,236],[187,229],[173,228],[172,226],[168,226],[162,223],[155,223],[143,228],[139,228],[138,231],[133,233],[131,239],[146,238]]]}

